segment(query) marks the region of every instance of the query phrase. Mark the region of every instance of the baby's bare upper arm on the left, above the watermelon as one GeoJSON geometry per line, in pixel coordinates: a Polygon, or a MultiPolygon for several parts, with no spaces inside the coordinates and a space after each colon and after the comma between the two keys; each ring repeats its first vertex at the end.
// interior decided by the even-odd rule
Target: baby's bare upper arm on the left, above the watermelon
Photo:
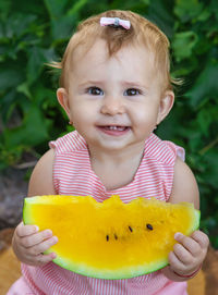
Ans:
{"type": "Polygon", "coordinates": [[[33,170],[28,196],[55,195],[52,168],[55,161],[55,150],[49,149],[37,162],[33,170]]]}

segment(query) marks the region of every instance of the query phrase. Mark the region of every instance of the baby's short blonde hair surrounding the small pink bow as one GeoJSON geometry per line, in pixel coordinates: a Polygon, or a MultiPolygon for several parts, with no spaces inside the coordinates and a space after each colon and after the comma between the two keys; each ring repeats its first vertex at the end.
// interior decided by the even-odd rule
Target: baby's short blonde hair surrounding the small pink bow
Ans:
{"type": "Polygon", "coordinates": [[[172,89],[172,84],[180,84],[170,77],[169,40],[167,36],[152,22],[131,11],[110,10],[90,16],[78,24],[75,34],[71,37],[61,62],[50,65],[61,69],[60,86],[68,88],[68,73],[72,69],[72,60],[78,46],[85,52],[90,49],[96,39],[104,39],[108,46],[109,57],[126,45],[144,45],[154,53],[155,65],[164,82],[164,90],[172,89]],[[122,27],[100,26],[100,17],[119,17],[131,23],[130,29],[122,27]]]}

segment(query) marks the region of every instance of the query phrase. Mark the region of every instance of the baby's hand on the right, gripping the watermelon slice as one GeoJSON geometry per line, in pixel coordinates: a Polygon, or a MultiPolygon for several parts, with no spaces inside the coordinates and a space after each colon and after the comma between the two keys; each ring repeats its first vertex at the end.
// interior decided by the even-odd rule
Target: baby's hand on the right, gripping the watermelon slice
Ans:
{"type": "Polygon", "coordinates": [[[177,233],[174,238],[179,243],[169,254],[170,269],[179,275],[190,275],[201,268],[207,254],[209,239],[201,231],[193,232],[191,236],[177,233]]]}

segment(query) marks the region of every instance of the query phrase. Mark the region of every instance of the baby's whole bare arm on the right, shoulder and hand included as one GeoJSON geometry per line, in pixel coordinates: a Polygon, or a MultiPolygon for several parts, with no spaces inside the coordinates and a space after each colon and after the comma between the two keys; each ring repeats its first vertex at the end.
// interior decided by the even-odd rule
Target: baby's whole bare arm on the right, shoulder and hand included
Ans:
{"type": "MultiPolygon", "coordinates": [[[[174,165],[174,180],[170,202],[189,201],[193,202],[196,209],[199,208],[199,193],[195,177],[190,168],[179,158],[174,165]]],[[[169,254],[169,266],[162,269],[162,273],[172,281],[186,281],[195,274],[205,259],[208,237],[201,231],[195,231],[191,236],[177,235],[177,244],[173,251],[169,254]],[[175,273],[179,273],[175,274],[175,273]]]]}

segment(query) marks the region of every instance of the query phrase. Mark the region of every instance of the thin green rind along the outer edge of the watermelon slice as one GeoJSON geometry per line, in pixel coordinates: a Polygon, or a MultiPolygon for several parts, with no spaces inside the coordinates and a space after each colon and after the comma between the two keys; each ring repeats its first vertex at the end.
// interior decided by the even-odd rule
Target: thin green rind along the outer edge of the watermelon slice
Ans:
{"type": "MultiPolygon", "coordinates": [[[[23,207],[23,221],[24,224],[33,224],[34,220],[32,219],[31,214],[28,213],[27,206],[31,202],[36,202],[39,197],[33,197],[33,198],[25,198],[24,199],[24,207],[23,207]]],[[[46,201],[45,201],[46,202],[46,201]]],[[[186,235],[192,234],[192,232],[196,231],[199,228],[199,220],[201,220],[201,211],[194,209],[194,222],[192,223],[192,226],[187,229],[186,235]]],[[[45,254],[52,253],[52,247],[45,251],[45,254]]],[[[85,263],[73,263],[72,261],[69,261],[66,258],[59,257],[58,253],[57,258],[52,261],[57,263],[58,266],[73,271],[75,273],[90,276],[95,279],[106,279],[106,280],[120,280],[120,279],[131,279],[134,276],[140,276],[144,274],[148,274],[155,271],[158,271],[165,267],[168,266],[168,258],[164,258],[160,261],[156,261],[152,263],[150,266],[144,265],[144,266],[136,266],[134,267],[125,267],[123,269],[119,270],[99,270],[98,268],[92,268],[89,266],[86,266],[85,263]]]]}

